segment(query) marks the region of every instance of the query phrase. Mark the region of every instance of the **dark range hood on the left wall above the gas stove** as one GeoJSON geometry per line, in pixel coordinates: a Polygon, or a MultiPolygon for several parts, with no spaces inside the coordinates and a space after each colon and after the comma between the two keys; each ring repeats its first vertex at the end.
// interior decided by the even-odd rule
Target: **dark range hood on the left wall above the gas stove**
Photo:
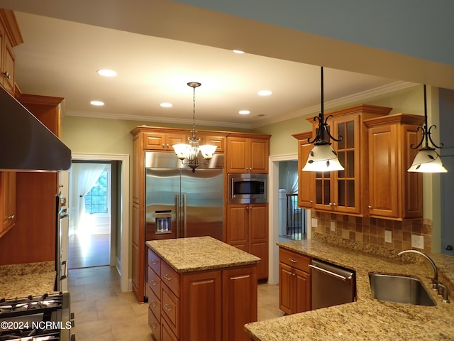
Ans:
{"type": "Polygon", "coordinates": [[[0,171],[66,171],[71,150],[0,87],[0,171]]]}

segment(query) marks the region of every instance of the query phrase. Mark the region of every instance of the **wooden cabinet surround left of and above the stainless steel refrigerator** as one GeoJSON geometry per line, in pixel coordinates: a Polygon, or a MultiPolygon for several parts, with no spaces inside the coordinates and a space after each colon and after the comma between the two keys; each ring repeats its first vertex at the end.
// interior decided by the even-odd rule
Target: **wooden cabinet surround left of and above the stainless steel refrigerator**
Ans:
{"type": "MultiPolygon", "coordinates": [[[[173,144],[187,143],[189,129],[162,128],[156,126],[137,126],[133,135],[133,235],[132,248],[132,285],[133,293],[139,302],[147,296],[145,291],[145,271],[147,270],[145,252],[145,152],[163,151],[172,153],[173,144]]],[[[201,144],[216,144],[216,153],[225,150],[227,132],[199,131],[201,144]]],[[[175,156],[176,158],[176,156],[175,156]]],[[[167,330],[167,329],[166,329],[167,330]]],[[[162,333],[165,331],[162,330],[162,333]]]]}

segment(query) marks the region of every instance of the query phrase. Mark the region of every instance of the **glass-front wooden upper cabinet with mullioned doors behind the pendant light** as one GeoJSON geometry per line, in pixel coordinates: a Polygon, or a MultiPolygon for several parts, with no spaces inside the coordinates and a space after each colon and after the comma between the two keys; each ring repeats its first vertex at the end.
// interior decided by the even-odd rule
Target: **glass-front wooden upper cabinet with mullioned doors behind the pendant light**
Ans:
{"type": "MultiPolygon", "coordinates": [[[[331,141],[332,146],[338,153],[339,161],[345,168],[344,171],[334,172],[303,172],[299,167],[299,186],[304,190],[301,199],[301,207],[313,208],[314,210],[348,213],[362,215],[363,200],[362,192],[367,180],[367,131],[363,124],[365,119],[381,117],[389,114],[391,108],[377,107],[373,105],[358,105],[348,109],[338,110],[326,114],[332,115],[328,119],[331,134],[336,138],[342,136],[341,141],[331,141]],[[312,173],[306,175],[304,173],[312,173]],[[304,184],[308,181],[311,185],[304,184]],[[309,194],[311,193],[311,194],[309,194]]],[[[308,119],[313,121],[312,119],[308,119]]],[[[314,121],[312,136],[316,136],[319,128],[318,121],[314,121]]],[[[304,134],[306,136],[306,134],[304,134]]],[[[301,134],[294,137],[299,139],[299,153],[309,153],[311,146],[300,141],[301,134]]],[[[304,141],[304,140],[303,140],[304,141]]],[[[304,156],[307,158],[307,156],[304,156]]]]}

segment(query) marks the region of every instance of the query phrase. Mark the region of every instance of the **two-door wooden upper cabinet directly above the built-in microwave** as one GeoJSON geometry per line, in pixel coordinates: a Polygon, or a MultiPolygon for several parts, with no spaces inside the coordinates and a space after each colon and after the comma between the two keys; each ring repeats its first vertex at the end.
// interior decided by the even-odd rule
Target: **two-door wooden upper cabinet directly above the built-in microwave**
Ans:
{"type": "Polygon", "coordinates": [[[227,173],[268,173],[270,135],[229,134],[227,173]]]}

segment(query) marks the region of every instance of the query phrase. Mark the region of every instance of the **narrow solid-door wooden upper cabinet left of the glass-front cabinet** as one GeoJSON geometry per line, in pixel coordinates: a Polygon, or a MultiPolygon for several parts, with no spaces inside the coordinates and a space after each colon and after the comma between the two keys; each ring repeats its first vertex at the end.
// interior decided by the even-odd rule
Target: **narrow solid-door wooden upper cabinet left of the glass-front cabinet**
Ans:
{"type": "Polygon", "coordinates": [[[301,169],[306,165],[309,152],[314,144],[309,144],[312,139],[312,131],[293,135],[298,140],[298,206],[301,208],[314,207],[314,172],[303,172],[301,169]]]}

